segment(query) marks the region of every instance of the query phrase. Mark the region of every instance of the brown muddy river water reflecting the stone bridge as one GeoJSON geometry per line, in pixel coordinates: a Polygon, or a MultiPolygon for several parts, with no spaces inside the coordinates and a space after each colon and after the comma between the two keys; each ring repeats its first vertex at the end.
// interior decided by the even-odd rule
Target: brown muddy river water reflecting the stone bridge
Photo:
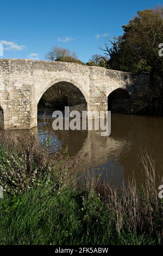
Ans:
{"type": "MultiPolygon", "coordinates": [[[[101,180],[120,186],[133,174],[142,184],[144,175],[140,162],[141,150],[146,149],[155,161],[156,176],[163,175],[163,118],[111,114],[111,134],[101,136],[98,130],[58,130],[52,128],[52,110],[38,112],[37,128],[32,129],[38,144],[47,137],[52,139],[52,152],[67,147],[69,156],[78,162],[76,173],[82,175],[93,170],[101,180]]],[[[23,136],[26,131],[15,131],[23,136]]]]}

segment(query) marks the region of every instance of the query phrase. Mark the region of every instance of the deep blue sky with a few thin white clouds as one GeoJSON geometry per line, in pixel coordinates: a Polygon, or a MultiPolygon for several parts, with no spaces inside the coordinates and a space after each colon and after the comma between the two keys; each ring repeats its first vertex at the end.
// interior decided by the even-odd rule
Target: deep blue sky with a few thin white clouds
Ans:
{"type": "Polygon", "coordinates": [[[137,10],[162,0],[1,1],[0,42],[4,58],[44,59],[53,45],[75,51],[86,62],[106,41],[122,34],[137,10]]]}

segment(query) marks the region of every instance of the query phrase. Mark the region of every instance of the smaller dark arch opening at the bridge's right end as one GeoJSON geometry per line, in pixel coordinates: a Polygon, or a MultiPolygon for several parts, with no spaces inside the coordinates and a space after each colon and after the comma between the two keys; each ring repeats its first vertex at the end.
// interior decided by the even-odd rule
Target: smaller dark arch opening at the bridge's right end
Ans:
{"type": "Polygon", "coordinates": [[[131,100],[129,93],[122,88],[112,91],[108,96],[108,110],[112,113],[130,113],[131,100]]]}

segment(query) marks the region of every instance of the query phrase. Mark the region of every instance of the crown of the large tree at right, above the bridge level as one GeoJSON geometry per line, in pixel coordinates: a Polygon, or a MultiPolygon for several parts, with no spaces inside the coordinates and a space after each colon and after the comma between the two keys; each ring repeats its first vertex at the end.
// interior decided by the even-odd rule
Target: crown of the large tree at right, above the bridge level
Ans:
{"type": "Polygon", "coordinates": [[[159,44],[163,42],[163,9],[138,11],[123,35],[105,44],[104,54],[109,56],[113,69],[139,72],[152,70],[160,62],[159,44]]]}

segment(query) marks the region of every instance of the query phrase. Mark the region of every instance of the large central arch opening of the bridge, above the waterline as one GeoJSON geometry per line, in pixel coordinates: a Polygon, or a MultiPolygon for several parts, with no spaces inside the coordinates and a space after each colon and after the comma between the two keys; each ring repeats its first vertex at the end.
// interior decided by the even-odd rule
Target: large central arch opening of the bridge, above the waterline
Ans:
{"type": "Polygon", "coordinates": [[[70,111],[87,110],[86,99],[79,88],[71,82],[61,81],[43,93],[37,104],[37,109],[64,110],[65,106],[69,106],[70,111]]]}

